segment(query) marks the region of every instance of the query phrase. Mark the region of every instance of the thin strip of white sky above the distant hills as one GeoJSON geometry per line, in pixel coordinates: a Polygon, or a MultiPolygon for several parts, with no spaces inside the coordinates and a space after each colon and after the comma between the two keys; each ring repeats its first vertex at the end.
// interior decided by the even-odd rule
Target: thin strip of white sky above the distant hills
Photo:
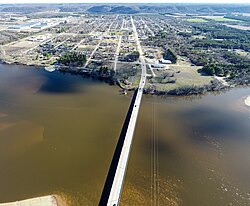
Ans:
{"type": "Polygon", "coordinates": [[[11,3],[250,3],[250,0],[0,0],[11,3]]]}

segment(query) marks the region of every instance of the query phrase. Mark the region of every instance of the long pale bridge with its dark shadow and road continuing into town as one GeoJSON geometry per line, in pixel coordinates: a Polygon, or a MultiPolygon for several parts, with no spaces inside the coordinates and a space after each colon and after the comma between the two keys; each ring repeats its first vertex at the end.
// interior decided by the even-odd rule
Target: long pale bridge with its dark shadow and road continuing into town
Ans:
{"type": "Polygon", "coordinates": [[[138,88],[134,92],[127,116],[123,124],[123,128],[110,165],[108,176],[103,188],[99,206],[103,205],[117,206],[119,204],[126,168],[129,160],[129,154],[133,141],[133,135],[136,127],[136,121],[141,105],[143,88],[146,82],[146,75],[147,75],[146,63],[143,58],[143,53],[138,38],[138,33],[132,17],[131,17],[131,22],[137,44],[137,49],[138,52],[140,53],[140,62],[142,69],[141,79],[138,88]]]}

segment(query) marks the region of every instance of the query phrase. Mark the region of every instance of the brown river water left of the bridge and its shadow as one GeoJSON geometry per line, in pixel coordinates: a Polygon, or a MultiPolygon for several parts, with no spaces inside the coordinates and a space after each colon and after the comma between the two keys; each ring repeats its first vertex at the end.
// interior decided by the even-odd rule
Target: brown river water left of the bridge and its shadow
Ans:
{"type": "Polygon", "coordinates": [[[130,98],[70,74],[0,66],[0,202],[97,205],[130,98]]]}

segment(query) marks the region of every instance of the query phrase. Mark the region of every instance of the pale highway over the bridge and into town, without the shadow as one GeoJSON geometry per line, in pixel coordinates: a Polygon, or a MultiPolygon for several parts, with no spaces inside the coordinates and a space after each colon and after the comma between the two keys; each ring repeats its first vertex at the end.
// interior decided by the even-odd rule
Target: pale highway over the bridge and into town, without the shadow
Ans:
{"type": "Polygon", "coordinates": [[[136,44],[137,44],[137,49],[140,53],[142,73],[141,73],[141,80],[138,86],[135,101],[134,101],[134,104],[132,105],[133,108],[132,108],[129,124],[127,127],[124,143],[122,146],[122,150],[120,153],[118,165],[116,168],[115,176],[113,179],[112,188],[110,190],[110,194],[108,197],[108,202],[107,202],[108,206],[117,206],[119,204],[120,196],[122,193],[122,186],[123,186],[123,182],[124,182],[124,178],[126,174],[126,168],[127,168],[127,164],[129,160],[129,154],[130,154],[131,145],[133,141],[133,135],[134,135],[135,127],[136,127],[136,121],[137,121],[137,117],[138,117],[139,109],[141,105],[143,88],[146,82],[146,64],[145,64],[145,60],[143,57],[143,52],[142,52],[142,48],[140,45],[140,41],[138,38],[136,26],[134,24],[134,20],[132,17],[131,17],[131,23],[133,27],[134,37],[135,37],[136,44]]]}

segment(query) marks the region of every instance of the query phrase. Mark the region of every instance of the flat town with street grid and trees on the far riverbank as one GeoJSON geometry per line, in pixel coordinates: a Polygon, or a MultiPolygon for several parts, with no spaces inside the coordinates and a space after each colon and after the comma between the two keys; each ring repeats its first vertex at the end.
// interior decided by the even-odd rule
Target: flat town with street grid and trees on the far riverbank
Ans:
{"type": "Polygon", "coordinates": [[[133,19],[147,64],[146,93],[198,94],[248,85],[249,17],[220,15],[2,12],[0,58],[98,76],[133,90],[141,73],[133,19]]]}

